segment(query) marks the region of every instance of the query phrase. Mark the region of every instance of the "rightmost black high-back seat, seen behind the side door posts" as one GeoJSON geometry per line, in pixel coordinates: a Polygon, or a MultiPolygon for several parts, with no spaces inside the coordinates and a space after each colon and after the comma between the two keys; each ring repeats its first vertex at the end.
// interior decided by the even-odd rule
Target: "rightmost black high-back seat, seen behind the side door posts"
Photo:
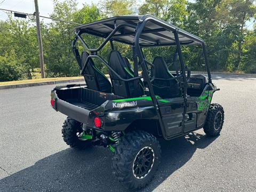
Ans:
{"type": "MultiPolygon", "coordinates": [[[[164,58],[157,56],[153,61],[153,65],[155,66],[155,79],[152,85],[155,94],[161,98],[180,97],[179,83],[176,79],[170,79],[174,76],[167,68],[164,58]]],[[[151,68],[151,70],[153,69],[151,68]]],[[[151,71],[151,74],[153,74],[153,71],[151,71]]]]}

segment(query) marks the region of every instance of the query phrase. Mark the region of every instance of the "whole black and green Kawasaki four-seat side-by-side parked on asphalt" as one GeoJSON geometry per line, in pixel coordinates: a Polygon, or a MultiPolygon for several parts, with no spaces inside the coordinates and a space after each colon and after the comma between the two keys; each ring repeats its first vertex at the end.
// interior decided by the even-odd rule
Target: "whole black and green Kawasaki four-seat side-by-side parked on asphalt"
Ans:
{"type": "Polygon", "coordinates": [[[51,92],[52,107],[68,116],[62,137],[70,147],[108,147],[114,153],[113,173],[126,187],[142,188],[153,178],[161,159],[157,138],[170,140],[201,128],[211,137],[220,134],[224,111],[211,104],[219,89],[212,83],[203,39],[152,15],[129,15],[76,27],[72,47],[86,84],[51,92]],[[91,48],[83,34],[103,41],[91,48]],[[78,51],[78,39],[86,51],[78,51]],[[132,60],[122,57],[113,42],[130,45],[132,60]],[[99,55],[107,43],[108,61],[99,55]],[[202,48],[207,77],[191,75],[182,45],[202,48]],[[161,55],[146,59],[143,51],[156,46],[175,46],[174,73],[161,55]],[[109,78],[95,60],[108,68],[109,78]]]}

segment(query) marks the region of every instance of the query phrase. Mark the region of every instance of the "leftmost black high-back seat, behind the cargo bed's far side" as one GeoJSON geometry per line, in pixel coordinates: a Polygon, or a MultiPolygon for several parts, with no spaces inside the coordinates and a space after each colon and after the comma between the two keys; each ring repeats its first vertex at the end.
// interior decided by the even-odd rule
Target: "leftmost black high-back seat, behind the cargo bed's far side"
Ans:
{"type": "MultiPolygon", "coordinates": [[[[85,61],[89,54],[86,51],[82,52],[82,68],[84,67],[85,61]]],[[[92,59],[88,62],[84,70],[84,79],[89,89],[101,91],[105,93],[111,93],[112,86],[108,81],[108,78],[101,73],[101,71],[94,65],[92,59]]]]}

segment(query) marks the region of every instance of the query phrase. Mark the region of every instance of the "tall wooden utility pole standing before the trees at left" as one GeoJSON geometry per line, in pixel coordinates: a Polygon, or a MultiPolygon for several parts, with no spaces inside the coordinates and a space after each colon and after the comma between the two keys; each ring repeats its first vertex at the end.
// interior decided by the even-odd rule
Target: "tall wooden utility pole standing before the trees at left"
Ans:
{"type": "Polygon", "coordinates": [[[37,0],[35,0],[35,10],[36,10],[36,31],[37,31],[37,40],[38,40],[38,47],[39,47],[39,59],[40,59],[40,67],[41,67],[41,76],[42,76],[42,78],[45,78],[43,44],[42,44],[42,36],[41,36],[41,28],[40,28],[40,19],[39,19],[39,10],[38,10],[37,0]]]}

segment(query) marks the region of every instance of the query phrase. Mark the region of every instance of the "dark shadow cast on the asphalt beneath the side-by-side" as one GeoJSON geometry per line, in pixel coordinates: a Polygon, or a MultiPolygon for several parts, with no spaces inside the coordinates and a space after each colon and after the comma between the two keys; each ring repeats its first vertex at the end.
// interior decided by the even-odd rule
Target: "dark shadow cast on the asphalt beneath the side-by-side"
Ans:
{"type": "MultiPolygon", "coordinates": [[[[198,133],[171,141],[161,140],[162,163],[153,181],[143,191],[151,191],[215,138],[198,133]]],[[[101,147],[84,151],[65,149],[33,166],[0,180],[1,191],[129,191],[111,174],[112,154],[101,147]]]]}

